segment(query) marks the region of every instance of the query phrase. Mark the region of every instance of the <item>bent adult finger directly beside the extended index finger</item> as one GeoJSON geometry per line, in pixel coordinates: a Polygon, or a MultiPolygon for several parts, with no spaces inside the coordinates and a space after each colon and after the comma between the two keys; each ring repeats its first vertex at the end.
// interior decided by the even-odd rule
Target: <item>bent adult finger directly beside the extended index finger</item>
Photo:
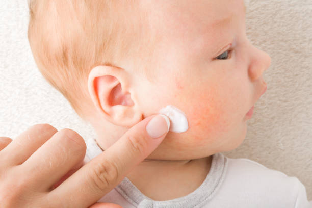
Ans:
{"type": "Polygon", "coordinates": [[[62,176],[83,161],[86,148],[86,143],[79,134],[64,128],[54,134],[19,168],[27,175],[27,180],[32,181],[32,186],[37,191],[48,191],[62,176]]]}

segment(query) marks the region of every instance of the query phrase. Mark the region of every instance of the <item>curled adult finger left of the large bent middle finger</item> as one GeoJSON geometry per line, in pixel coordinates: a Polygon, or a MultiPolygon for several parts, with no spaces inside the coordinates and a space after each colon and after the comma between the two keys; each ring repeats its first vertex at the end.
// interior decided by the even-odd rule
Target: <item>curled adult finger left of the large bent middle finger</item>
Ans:
{"type": "Polygon", "coordinates": [[[58,130],[47,123],[33,125],[3,149],[0,152],[0,158],[5,157],[5,155],[10,156],[3,161],[6,166],[22,164],[56,132],[58,130]]]}

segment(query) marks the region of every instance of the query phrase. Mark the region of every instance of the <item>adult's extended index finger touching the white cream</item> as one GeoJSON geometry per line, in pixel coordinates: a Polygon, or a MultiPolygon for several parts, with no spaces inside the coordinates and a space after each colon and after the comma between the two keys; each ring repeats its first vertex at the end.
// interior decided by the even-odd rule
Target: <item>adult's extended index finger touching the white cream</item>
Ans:
{"type": "Polygon", "coordinates": [[[88,207],[97,202],[163,141],[169,126],[165,115],[145,118],[51,191],[49,201],[58,206],[58,201],[53,199],[72,199],[63,201],[66,207],[88,207]]]}

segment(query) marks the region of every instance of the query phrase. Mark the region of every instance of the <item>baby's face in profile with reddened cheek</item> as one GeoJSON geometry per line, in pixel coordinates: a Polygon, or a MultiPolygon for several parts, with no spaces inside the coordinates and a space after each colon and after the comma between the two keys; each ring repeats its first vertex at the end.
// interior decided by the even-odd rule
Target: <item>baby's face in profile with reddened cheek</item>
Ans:
{"type": "MultiPolygon", "coordinates": [[[[146,2],[148,1],[143,1],[146,2]]],[[[150,18],[162,37],[155,84],[138,80],[144,117],[173,105],[186,114],[184,133],[169,132],[148,159],[203,158],[238,147],[246,113],[263,94],[271,59],[245,33],[243,0],[153,1],[150,18]],[[151,93],[152,92],[152,93],[151,93]]]]}

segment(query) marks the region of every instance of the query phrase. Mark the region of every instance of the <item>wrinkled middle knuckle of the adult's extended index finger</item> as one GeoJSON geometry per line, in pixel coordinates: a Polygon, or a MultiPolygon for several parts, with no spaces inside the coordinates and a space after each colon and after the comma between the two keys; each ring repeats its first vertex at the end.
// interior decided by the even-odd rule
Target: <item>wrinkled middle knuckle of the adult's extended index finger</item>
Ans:
{"type": "Polygon", "coordinates": [[[93,167],[91,179],[94,187],[100,191],[113,187],[117,183],[118,178],[118,168],[113,162],[105,160],[93,167]]]}

